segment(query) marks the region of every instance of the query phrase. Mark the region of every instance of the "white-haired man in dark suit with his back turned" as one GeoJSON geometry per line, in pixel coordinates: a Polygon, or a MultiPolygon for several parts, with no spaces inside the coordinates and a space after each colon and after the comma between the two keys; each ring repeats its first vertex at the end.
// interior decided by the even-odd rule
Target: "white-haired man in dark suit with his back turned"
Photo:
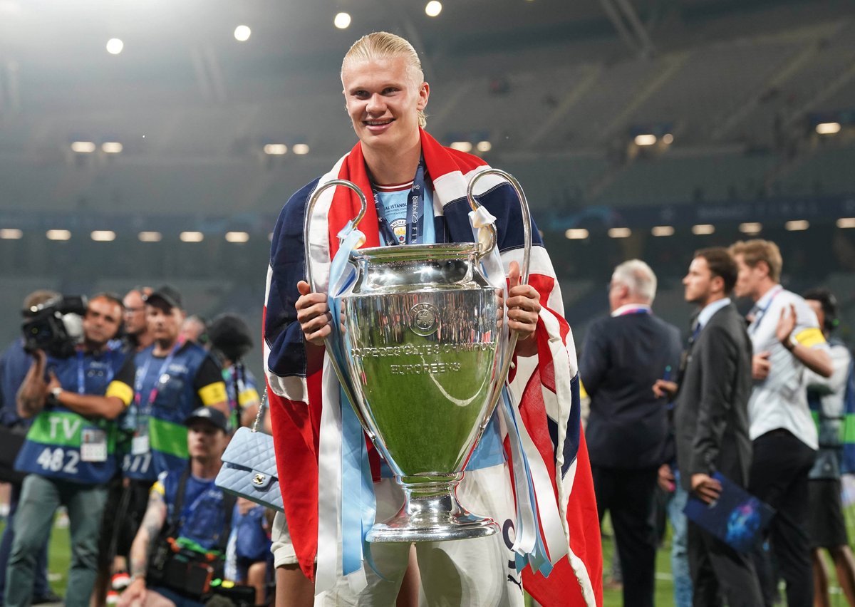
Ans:
{"type": "Polygon", "coordinates": [[[656,537],[651,510],[668,434],[657,378],[680,359],[680,332],[651,312],[656,275],[637,259],[615,268],[611,315],[587,331],[579,363],[591,397],[586,438],[600,521],[610,511],[623,575],[623,604],[652,607],[656,537]]]}

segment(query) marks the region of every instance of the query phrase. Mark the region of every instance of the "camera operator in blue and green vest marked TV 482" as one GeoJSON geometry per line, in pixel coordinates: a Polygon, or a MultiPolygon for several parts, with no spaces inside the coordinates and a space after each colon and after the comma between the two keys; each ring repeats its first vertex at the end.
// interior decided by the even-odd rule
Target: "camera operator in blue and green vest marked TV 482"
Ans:
{"type": "Polygon", "coordinates": [[[6,574],[8,607],[30,604],[38,551],[61,504],[71,523],[66,604],[89,604],[106,482],[116,469],[114,420],[133,399],[133,357],[109,346],[121,318],[120,299],[97,295],[85,309],[83,343],[51,348],[69,356],[33,352],[17,395],[19,414],[35,419],[15,461],[27,477],[6,574]]]}

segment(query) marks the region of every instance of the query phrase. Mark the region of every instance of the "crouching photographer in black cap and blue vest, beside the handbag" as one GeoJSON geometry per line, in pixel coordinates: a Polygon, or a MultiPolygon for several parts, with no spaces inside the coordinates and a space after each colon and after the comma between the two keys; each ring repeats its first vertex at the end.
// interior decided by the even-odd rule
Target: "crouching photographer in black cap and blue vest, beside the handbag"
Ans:
{"type": "Polygon", "coordinates": [[[121,607],[202,605],[210,582],[222,577],[235,498],[214,480],[230,427],[226,415],[212,407],[194,410],[186,426],[190,464],[162,473],[151,488],[131,546],[132,581],[121,607]]]}

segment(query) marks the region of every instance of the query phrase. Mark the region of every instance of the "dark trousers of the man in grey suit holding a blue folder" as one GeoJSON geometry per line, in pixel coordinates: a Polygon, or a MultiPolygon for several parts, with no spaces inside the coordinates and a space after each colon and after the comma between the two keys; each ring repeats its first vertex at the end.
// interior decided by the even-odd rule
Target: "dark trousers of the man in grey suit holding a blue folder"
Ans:
{"type": "Polygon", "coordinates": [[[693,607],[759,607],[760,584],[750,554],[737,552],[704,529],[688,522],[689,570],[693,607]]]}

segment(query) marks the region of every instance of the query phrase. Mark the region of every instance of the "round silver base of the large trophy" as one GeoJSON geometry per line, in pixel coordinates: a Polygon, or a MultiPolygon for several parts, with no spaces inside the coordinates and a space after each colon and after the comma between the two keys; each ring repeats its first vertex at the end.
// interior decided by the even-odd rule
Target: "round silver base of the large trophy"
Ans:
{"type": "Polygon", "coordinates": [[[392,518],[371,527],[366,539],[377,543],[441,542],[484,538],[498,532],[492,518],[463,508],[453,483],[445,491],[420,495],[404,485],[404,506],[392,518]]]}

